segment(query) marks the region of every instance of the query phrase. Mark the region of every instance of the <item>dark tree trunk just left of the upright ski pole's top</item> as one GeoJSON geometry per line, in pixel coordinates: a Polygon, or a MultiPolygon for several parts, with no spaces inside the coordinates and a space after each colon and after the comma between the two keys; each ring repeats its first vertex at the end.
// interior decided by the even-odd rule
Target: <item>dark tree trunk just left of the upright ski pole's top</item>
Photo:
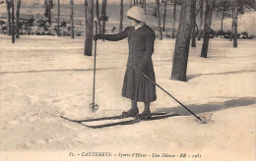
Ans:
{"type": "Polygon", "coordinates": [[[85,55],[92,56],[94,37],[94,6],[95,1],[88,1],[88,20],[86,28],[85,55]]]}

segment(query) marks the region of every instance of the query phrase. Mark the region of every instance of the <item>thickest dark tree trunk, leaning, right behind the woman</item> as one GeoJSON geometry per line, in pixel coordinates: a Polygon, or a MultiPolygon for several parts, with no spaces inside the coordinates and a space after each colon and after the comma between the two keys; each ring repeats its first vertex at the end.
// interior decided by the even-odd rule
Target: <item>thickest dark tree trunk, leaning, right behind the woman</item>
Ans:
{"type": "Polygon", "coordinates": [[[172,61],[171,80],[186,82],[191,36],[192,5],[196,0],[182,0],[178,33],[172,61]]]}

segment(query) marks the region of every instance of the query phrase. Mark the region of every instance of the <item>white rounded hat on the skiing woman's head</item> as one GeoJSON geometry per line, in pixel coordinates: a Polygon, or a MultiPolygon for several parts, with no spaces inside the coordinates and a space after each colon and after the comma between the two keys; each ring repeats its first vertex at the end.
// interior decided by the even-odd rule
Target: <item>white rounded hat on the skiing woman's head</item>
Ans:
{"type": "Polygon", "coordinates": [[[134,20],[145,23],[146,22],[146,14],[144,9],[139,6],[134,6],[127,12],[127,17],[130,17],[134,20]]]}

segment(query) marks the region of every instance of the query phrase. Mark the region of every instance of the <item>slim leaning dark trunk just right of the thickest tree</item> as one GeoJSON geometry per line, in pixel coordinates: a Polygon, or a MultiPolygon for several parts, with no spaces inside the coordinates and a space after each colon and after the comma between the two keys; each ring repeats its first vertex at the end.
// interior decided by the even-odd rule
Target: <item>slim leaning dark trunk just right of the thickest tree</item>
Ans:
{"type": "Polygon", "coordinates": [[[203,46],[202,46],[202,51],[201,51],[201,57],[203,57],[203,58],[207,58],[213,8],[214,8],[214,0],[206,0],[205,34],[204,34],[204,42],[203,42],[203,46]]]}

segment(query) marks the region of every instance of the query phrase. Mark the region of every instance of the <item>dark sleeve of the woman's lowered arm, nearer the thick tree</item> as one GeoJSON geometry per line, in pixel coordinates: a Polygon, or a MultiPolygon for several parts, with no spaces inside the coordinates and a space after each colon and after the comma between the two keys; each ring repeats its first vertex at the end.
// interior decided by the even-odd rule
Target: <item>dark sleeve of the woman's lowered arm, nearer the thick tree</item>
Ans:
{"type": "Polygon", "coordinates": [[[141,63],[138,65],[139,71],[144,71],[148,68],[150,61],[152,60],[152,54],[154,53],[154,43],[156,34],[154,30],[151,30],[146,36],[146,51],[142,58],[141,63]]]}

